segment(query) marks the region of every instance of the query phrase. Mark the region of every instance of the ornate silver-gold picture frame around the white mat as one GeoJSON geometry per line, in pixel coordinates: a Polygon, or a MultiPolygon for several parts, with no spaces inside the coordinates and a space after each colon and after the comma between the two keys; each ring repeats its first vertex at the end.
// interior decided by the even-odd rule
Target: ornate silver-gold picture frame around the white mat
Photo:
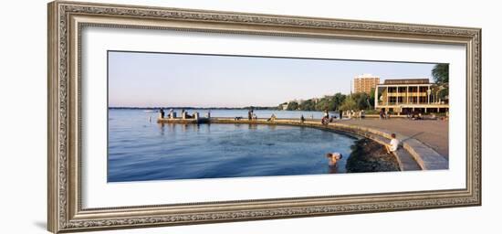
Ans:
{"type": "Polygon", "coordinates": [[[52,232],[481,205],[480,28],[56,1],[48,4],[47,41],[47,229],[52,232]],[[466,187],[388,194],[82,208],[79,171],[80,32],[84,27],[464,45],[467,55],[466,187]]]}

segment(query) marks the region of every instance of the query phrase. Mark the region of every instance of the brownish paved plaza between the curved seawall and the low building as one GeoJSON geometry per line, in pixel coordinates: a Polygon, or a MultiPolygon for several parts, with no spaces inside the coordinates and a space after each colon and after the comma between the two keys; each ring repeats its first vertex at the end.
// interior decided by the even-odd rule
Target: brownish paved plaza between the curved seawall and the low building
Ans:
{"type": "Polygon", "coordinates": [[[364,119],[346,120],[344,123],[361,125],[385,132],[401,133],[433,148],[448,159],[448,122],[447,121],[412,121],[406,119],[364,119]]]}

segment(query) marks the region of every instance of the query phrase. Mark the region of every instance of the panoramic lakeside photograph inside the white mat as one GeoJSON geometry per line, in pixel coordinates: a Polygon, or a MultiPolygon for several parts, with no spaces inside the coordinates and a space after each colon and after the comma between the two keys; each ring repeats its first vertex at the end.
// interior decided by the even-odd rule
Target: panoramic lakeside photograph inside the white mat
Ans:
{"type": "Polygon", "coordinates": [[[448,64],[108,51],[108,182],[448,169],[448,64]]]}

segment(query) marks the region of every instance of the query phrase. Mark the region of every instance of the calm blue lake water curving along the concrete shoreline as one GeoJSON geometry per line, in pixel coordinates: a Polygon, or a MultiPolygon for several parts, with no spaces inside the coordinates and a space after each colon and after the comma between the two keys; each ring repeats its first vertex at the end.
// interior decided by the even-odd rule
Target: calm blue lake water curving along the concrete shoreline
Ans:
{"type": "MultiPolygon", "coordinates": [[[[321,112],[275,113],[278,118],[299,118],[302,113],[316,119],[322,116],[321,112]]],[[[256,111],[258,118],[270,114],[256,111]]],[[[157,115],[109,111],[109,182],[344,173],[355,141],[344,134],[295,126],[161,124],[157,115]],[[329,152],[343,154],[336,168],[328,166],[324,154],[329,152]]],[[[211,115],[246,117],[247,112],[212,111],[211,115]]]]}

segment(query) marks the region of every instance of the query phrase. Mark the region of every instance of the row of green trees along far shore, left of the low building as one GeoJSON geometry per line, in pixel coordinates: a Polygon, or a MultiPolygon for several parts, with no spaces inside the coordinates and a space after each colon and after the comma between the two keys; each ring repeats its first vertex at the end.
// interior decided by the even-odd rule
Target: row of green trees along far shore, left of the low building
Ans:
{"type": "Polygon", "coordinates": [[[289,101],[278,105],[278,110],[283,110],[283,105],[288,105],[288,111],[359,111],[370,110],[374,105],[374,90],[371,94],[358,92],[353,94],[336,93],[332,96],[324,96],[323,98],[312,98],[306,101],[289,101]]]}

